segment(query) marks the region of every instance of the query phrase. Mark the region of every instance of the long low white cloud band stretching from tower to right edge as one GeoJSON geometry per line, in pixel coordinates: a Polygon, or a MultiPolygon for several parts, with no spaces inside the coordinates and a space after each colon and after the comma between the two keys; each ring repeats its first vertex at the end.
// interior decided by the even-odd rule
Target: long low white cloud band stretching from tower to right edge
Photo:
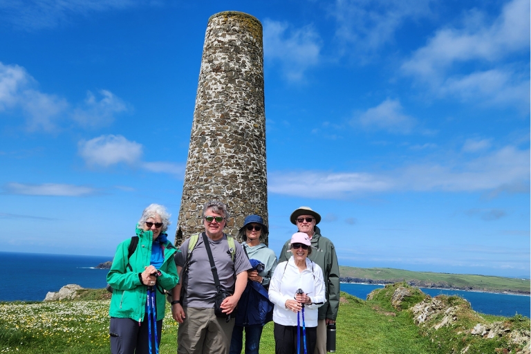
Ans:
{"type": "Polygon", "coordinates": [[[503,147],[474,160],[408,165],[374,173],[268,172],[268,190],[288,196],[346,198],[387,191],[528,193],[530,151],[503,147]]]}

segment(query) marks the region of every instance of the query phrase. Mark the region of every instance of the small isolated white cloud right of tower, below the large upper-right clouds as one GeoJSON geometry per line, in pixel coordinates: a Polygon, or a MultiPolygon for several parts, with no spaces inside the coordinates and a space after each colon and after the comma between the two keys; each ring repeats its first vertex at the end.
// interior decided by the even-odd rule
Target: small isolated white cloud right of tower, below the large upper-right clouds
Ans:
{"type": "Polygon", "coordinates": [[[389,98],[358,115],[352,122],[366,129],[383,129],[389,133],[409,133],[416,123],[413,117],[402,113],[400,101],[389,98]]]}

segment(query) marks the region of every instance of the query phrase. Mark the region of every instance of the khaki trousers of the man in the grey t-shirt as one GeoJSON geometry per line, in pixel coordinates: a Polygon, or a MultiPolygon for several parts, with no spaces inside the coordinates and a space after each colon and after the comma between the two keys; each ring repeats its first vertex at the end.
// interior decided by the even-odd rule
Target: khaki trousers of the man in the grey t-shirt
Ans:
{"type": "Polygon", "coordinates": [[[229,354],[234,318],[227,323],[214,308],[183,308],[185,321],[177,329],[178,354],[229,354]]]}

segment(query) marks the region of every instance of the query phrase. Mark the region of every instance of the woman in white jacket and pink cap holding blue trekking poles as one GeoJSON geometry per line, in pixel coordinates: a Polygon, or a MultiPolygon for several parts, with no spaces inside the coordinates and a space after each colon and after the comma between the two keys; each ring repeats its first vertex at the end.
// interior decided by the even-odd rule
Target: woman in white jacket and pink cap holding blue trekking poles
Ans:
{"type": "Polygon", "coordinates": [[[317,338],[317,308],[326,301],[323,271],[308,259],[311,242],[308,234],[296,232],[291,237],[292,257],[279,263],[270,281],[269,299],[274,304],[275,353],[297,352],[297,330],[300,331],[301,352],[304,346],[304,322],[306,327],[306,352],[313,353],[317,338]],[[298,290],[302,290],[302,292],[298,290]],[[300,292],[300,293],[299,293],[300,292]],[[300,326],[297,326],[297,317],[300,326]]]}

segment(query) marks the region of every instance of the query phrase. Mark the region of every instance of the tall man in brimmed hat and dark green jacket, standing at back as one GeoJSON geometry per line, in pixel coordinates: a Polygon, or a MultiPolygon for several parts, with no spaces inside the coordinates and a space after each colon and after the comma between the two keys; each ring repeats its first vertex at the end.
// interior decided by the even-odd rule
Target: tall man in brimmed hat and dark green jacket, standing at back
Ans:
{"type": "MultiPolygon", "coordinates": [[[[310,207],[299,207],[291,213],[290,221],[297,225],[299,232],[308,235],[314,252],[308,256],[323,270],[326,288],[326,302],[319,308],[317,321],[317,344],[314,354],[326,354],[326,325],[335,324],[337,310],[339,310],[339,264],[332,241],[321,236],[317,227],[321,216],[310,207]]],[[[291,257],[290,240],[284,243],[280,252],[279,263],[288,261],[291,257]]]]}

